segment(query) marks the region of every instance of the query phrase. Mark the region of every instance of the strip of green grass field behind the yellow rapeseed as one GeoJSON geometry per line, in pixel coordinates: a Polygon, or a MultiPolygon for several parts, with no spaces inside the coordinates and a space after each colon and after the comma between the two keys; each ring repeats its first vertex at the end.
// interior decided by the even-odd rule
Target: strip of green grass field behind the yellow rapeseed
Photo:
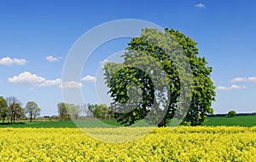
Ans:
{"type": "MultiPolygon", "coordinates": [[[[102,120],[106,124],[110,124],[113,126],[121,126],[115,120],[102,120]]],[[[101,125],[97,124],[95,120],[88,120],[87,123],[84,124],[85,127],[101,127],[101,125]]],[[[254,116],[236,116],[236,117],[208,117],[207,121],[202,125],[205,126],[256,126],[256,115],[254,116]]],[[[17,121],[15,124],[9,123],[0,123],[0,128],[76,128],[78,127],[73,121],[17,121]]]]}

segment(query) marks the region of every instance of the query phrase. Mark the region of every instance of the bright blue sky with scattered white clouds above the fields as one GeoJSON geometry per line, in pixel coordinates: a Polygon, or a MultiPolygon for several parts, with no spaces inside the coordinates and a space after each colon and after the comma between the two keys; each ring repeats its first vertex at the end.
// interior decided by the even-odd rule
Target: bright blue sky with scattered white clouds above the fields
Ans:
{"type": "Polygon", "coordinates": [[[253,0],[1,0],[0,95],[14,95],[23,107],[37,102],[41,116],[57,114],[62,90],[81,88],[84,102],[99,103],[96,93],[104,92],[95,88],[98,69],[131,38],[98,47],[84,64],[79,83],[62,82],[67,56],[94,27],[137,19],[176,29],[198,43],[199,56],[212,67],[214,113],[256,112],[255,7],[253,0]]]}

